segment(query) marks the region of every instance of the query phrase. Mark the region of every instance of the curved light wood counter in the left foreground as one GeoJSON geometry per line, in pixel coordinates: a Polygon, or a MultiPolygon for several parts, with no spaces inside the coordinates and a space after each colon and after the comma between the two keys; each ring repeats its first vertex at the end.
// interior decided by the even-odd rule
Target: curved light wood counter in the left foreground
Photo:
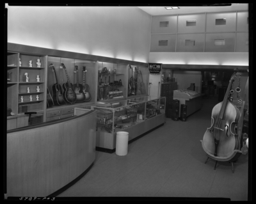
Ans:
{"type": "Polygon", "coordinates": [[[96,111],[85,110],[7,132],[6,196],[49,196],[92,166],[96,111]]]}

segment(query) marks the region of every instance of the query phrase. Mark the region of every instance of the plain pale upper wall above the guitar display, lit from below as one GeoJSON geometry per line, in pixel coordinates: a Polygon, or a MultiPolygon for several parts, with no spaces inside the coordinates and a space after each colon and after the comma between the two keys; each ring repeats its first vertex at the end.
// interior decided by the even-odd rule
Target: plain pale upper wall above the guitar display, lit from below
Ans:
{"type": "Polygon", "coordinates": [[[148,63],[151,16],[134,6],[8,6],[8,42],[148,63]]]}

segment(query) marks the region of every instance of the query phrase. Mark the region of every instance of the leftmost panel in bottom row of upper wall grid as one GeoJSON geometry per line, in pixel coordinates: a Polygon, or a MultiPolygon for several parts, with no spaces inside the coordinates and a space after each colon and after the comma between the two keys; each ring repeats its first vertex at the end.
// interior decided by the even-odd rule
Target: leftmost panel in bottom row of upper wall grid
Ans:
{"type": "Polygon", "coordinates": [[[175,52],[176,35],[151,35],[150,52],[175,52]]]}

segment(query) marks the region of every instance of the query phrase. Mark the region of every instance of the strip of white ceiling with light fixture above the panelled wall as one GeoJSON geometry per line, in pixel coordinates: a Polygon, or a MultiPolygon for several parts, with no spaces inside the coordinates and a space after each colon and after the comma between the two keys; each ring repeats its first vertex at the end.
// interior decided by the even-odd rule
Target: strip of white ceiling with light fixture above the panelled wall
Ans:
{"type": "MultiPolygon", "coordinates": [[[[182,5],[182,4],[180,4],[182,5]]],[[[150,15],[177,15],[188,13],[205,13],[205,12],[234,12],[248,10],[247,4],[232,3],[231,6],[179,6],[180,9],[166,10],[168,6],[138,6],[144,12],[150,15]]]]}

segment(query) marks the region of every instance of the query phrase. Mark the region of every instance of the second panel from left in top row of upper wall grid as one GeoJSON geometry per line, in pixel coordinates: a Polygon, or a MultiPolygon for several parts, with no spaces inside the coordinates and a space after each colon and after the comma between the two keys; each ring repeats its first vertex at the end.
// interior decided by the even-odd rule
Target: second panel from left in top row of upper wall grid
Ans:
{"type": "Polygon", "coordinates": [[[205,13],[178,16],[178,33],[204,33],[205,13]]]}

